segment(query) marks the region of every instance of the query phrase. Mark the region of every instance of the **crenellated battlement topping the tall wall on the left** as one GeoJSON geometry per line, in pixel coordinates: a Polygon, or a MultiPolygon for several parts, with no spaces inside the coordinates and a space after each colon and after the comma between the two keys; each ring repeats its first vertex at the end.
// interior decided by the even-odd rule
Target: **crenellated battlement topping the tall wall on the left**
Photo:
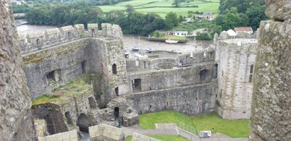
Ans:
{"type": "Polygon", "coordinates": [[[117,37],[122,38],[122,30],[119,25],[102,23],[98,30],[98,23],[89,23],[87,30],[83,24],[69,25],[53,28],[43,32],[30,32],[28,35],[18,35],[18,41],[21,47],[21,54],[26,54],[38,49],[52,47],[57,44],[69,42],[84,37],[117,37]]]}

